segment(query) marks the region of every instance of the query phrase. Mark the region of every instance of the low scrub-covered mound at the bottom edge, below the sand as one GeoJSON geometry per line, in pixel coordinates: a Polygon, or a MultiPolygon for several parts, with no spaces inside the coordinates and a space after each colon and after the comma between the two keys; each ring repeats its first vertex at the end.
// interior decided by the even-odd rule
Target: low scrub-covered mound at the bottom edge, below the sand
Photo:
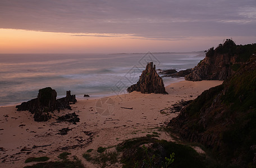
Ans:
{"type": "MultiPolygon", "coordinates": [[[[167,142],[152,137],[127,139],[111,151],[83,154],[86,161],[100,167],[122,163],[122,167],[214,167],[209,157],[197,153],[184,144],[167,142]]],[[[120,166],[120,165],[119,165],[120,166]]]]}

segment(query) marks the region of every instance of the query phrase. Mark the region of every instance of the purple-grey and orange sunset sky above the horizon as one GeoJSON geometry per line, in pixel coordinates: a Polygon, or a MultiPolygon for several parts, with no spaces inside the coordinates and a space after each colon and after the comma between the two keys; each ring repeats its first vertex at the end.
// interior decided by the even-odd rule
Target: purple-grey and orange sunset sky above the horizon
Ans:
{"type": "Polygon", "coordinates": [[[255,0],[0,1],[0,53],[190,52],[255,30],[255,0]]]}

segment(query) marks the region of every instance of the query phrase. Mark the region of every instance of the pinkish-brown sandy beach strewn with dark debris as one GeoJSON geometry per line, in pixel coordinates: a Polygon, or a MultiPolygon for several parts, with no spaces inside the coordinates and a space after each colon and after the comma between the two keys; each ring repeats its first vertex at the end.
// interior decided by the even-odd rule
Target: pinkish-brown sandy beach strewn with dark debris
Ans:
{"type": "MultiPolygon", "coordinates": [[[[85,167],[98,167],[85,160],[83,153],[89,149],[112,146],[130,138],[143,137],[166,125],[179,113],[160,113],[182,100],[194,100],[204,90],[221,85],[223,81],[181,81],[166,87],[168,95],[130,94],[104,99],[79,100],[72,110],[54,111],[48,122],[34,122],[33,114],[16,111],[15,106],[0,108],[0,167],[24,167],[26,158],[48,156],[57,161],[62,152],[77,156],[85,167]],[[108,104],[102,104],[102,102],[108,104]],[[106,110],[107,109],[107,110],[106,110]],[[79,115],[77,124],[57,122],[57,116],[67,113],[79,115]],[[109,114],[110,113],[110,114],[109,114]],[[70,129],[59,134],[61,129],[70,129]]],[[[160,139],[172,141],[166,132],[159,132],[160,139]]],[[[113,165],[112,165],[113,166],[113,165]]],[[[109,165],[109,167],[111,167],[109,165]]],[[[121,167],[116,164],[113,167],[121,167]]]]}

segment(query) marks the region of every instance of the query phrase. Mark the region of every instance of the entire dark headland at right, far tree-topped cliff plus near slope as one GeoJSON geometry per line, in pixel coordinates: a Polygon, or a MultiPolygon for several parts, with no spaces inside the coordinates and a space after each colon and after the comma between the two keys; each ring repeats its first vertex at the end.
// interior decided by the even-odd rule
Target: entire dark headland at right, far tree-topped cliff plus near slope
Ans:
{"type": "Polygon", "coordinates": [[[169,123],[181,138],[211,148],[226,166],[256,165],[255,45],[236,46],[227,40],[210,49],[185,78],[225,81],[204,91],[169,123]],[[236,54],[240,50],[244,53],[236,54]]]}

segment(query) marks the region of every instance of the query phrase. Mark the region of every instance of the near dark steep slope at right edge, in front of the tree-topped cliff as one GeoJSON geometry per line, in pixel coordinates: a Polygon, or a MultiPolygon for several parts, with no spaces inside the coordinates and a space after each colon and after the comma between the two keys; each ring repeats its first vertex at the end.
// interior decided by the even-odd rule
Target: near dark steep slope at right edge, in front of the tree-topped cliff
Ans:
{"type": "Polygon", "coordinates": [[[211,148],[222,162],[231,163],[228,166],[250,167],[256,164],[255,100],[256,55],[252,55],[222,85],[186,106],[169,126],[181,138],[211,148]]]}

